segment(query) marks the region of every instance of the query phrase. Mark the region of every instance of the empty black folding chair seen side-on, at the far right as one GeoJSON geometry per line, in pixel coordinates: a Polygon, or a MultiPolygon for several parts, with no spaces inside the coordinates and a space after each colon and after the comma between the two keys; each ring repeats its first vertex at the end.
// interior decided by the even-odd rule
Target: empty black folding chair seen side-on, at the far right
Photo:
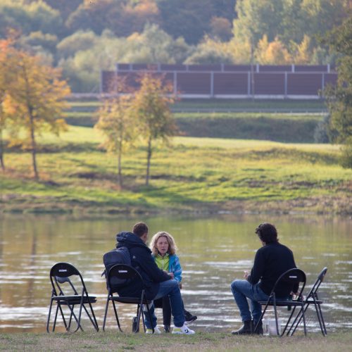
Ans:
{"type": "Polygon", "coordinates": [[[287,334],[291,333],[291,336],[294,334],[294,332],[296,331],[298,325],[302,320],[303,313],[306,313],[306,310],[308,309],[310,304],[314,304],[315,312],[317,313],[317,316],[318,316],[318,322],[320,325],[322,336],[327,335],[327,328],[325,327],[325,321],[324,321],[324,318],[322,317],[322,308],[320,307],[323,301],[321,301],[318,298],[318,289],[320,287],[320,284],[322,284],[322,282],[324,281],[326,273],[327,273],[327,268],[322,269],[322,271],[319,273],[318,279],[316,279],[315,283],[313,284],[313,287],[310,289],[308,295],[303,300],[304,310],[302,310],[301,308],[298,311],[298,314],[296,315],[296,318],[294,319],[294,322],[289,328],[289,331],[287,332],[287,334]]]}

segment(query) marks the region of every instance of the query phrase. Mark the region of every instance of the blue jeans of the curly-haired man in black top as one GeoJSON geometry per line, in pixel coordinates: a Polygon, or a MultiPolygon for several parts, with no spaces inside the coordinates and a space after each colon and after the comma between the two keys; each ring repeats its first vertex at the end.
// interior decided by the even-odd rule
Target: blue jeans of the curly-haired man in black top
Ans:
{"type": "Polygon", "coordinates": [[[252,320],[252,317],[255,322],[258,322],[262,313],[262,307],[258,301],[267,301],[269,296],[258,287],[258,284],[252,285],[247,280],[234,280],[231,284],[231,291],[239,307],[242,322],[252,320]],[[247,298],[251,300],[252,314],[249,311],[247,298]]]}

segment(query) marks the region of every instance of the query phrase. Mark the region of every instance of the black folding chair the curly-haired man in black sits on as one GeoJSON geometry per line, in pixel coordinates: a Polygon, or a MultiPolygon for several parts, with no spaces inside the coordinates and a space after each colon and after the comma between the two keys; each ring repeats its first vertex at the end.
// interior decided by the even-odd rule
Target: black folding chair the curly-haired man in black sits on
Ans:
{"type": "Polygon", "coordinates": [[[289,320],[287,320],[287,323],[284,327],[284,331],[280,336],[284,334],[286,331],[287,327],[289,326],[289,322],[291,321],[292,316],[294,315],[294,311],[296,310],[296,307],[301,307],[302,310],[302,318],[303,318],[303,326],[304,326],[304,334],[307,334],[306,331],[306,317],[304,315],[305,311],[303,310],[303,299],[302,299],[302,292],[304,287],[306,286],[306,274],[303,272],[301,269],[290,269],[287,270],[287,272],[284,272],[275,282],[274,287],[272,287],[272,291],[269,295],[268,301],[259,301],[262,306],[265,306],[263,313],[260,315],[260,319],[254,329],[254,332],[256,332],[259,323],[262,321],[263,316],[265,315],[265,311],[267,310],[268,306],[274,306],[274,312],[275,312],[275,323],[276,323],[276,332],[277,335],[279,334],[279,322],[277,319],[277,307],[287,307],[287,309],[291,309],[292,307],[294,309],[291,309],[291,315],[289,316],[289,320]],[[277,285],[279,284],[287,284],[287,286],[293,286],[294,284],[302,284],[301,289],[298,293],[298,298],[296,300],[284,300],[284,301],[279,301],[276,298],[275,295],[275,289],[277,285]]]}

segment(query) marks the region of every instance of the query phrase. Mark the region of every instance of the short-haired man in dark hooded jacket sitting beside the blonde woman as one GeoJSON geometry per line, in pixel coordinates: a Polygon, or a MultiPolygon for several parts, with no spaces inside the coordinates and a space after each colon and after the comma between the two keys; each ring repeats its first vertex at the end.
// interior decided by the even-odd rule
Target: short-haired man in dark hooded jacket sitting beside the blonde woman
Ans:
{"type": "MultiPolygon", "coordinates": [[[[174,329],[172,334],[194,334],[194,331],[184,325],[184,307],[182,303],[180,287],[178,282],[173,279],[172,273],[160,270],[151,256],[151,250],[146,246],[148,239],[148,227],[144,222],[137,222],[132,232],[120,232],[116,235],[117,247],[125,246],[130,251],[131,265],[142,276],[146,298],[150,301],[163,296],[170,297],[171,311],[174,318],[174,329]]],[[[124,289],[120,289],[120,296],[140,296],[142,287],[136,282],[131,282],[124,289]]],[[[154,314],[153,303],[149,307],[151,310],[152,322],[149,315],[145,313],[146,333],[151,334],[152,327],[154,332],[160,333],[156,326],[156,316],[154,314]]]]}

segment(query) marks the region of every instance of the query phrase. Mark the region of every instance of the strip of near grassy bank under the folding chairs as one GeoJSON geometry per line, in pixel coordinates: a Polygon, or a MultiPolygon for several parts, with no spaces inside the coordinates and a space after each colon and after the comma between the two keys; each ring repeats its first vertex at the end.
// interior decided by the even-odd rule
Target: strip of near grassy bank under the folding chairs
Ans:
{"type": "Polygon", "coordinates": [[[227,333],[194,336],[144,334],[0,334],[0,351],[350,351],[351,332],[322,337],[234,337],[227,333]]]}

